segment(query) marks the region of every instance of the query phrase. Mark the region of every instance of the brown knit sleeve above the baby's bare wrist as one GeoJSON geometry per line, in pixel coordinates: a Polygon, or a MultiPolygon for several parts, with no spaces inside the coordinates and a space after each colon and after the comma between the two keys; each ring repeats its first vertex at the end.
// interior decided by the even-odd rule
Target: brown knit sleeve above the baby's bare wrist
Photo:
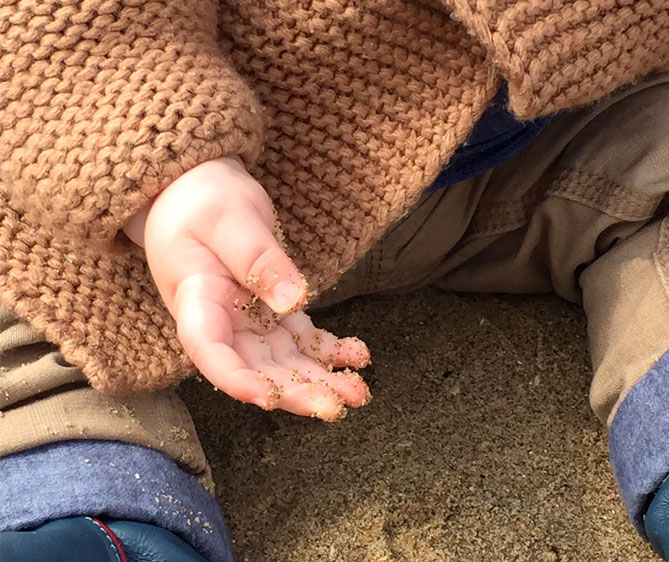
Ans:
{"type": "Polygon", "coordinates": [[[216,0],[0,4],[0,185],[33,224],[109,240],[188,169],[247,164],[262,124],[216,0]]]}

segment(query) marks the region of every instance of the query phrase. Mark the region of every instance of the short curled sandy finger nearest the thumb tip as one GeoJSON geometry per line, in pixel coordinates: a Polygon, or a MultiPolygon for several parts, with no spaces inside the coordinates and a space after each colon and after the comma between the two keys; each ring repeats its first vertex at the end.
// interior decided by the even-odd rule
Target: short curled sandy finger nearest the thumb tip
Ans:
{"type": "Polygon", "coordinates": [[[361,339],[338,338],[316,328],[302,311],[286,316],[280,324],[293,335],[297,348],[304,355],[324,365],[362,369],[371,361],[369,348],[361,339]]]}

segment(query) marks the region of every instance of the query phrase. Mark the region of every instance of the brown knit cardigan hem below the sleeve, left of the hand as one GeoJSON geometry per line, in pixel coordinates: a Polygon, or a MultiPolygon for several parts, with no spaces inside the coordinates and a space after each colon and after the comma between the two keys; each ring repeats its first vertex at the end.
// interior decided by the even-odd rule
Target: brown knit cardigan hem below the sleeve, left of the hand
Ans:
{"type": "Polygon", "coordinates": [[[148,390],[194,372],[138,248],[50,236],[2,191],[0,286],[3,304],[57,343],[99,390],[148,390]]]}

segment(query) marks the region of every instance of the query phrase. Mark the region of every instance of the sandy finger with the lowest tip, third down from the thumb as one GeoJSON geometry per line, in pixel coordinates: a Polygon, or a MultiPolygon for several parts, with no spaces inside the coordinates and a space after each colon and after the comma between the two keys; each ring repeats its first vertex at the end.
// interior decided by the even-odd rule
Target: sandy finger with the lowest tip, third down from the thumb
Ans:
{"type": "Polygon", "coordinates": [[[272,380],[277,389],[277,408],[324,421],[337,421],[346,414],[344,401],[334,390],[321,383],[305,382],[293,370],[277,365],[265,337],[238,332],[234,345],[249,367],[272,380]]]}

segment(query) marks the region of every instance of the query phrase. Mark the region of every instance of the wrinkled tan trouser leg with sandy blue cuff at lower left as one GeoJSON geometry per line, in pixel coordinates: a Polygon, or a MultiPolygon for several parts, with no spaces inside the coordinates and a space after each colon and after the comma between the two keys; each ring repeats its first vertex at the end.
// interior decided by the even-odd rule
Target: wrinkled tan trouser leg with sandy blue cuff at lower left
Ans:
{"type": "MultiPolygon", "coordinates": [[[[174,391],[111,397],[0,308],[3,531],[98,516],[149,523],[232,560],[193,422],[174,391]]],[[[10,540],[10,539],[7,539],[10,540]]],[[[15,539],[11,539],[15,540],[15,539]]]]}

